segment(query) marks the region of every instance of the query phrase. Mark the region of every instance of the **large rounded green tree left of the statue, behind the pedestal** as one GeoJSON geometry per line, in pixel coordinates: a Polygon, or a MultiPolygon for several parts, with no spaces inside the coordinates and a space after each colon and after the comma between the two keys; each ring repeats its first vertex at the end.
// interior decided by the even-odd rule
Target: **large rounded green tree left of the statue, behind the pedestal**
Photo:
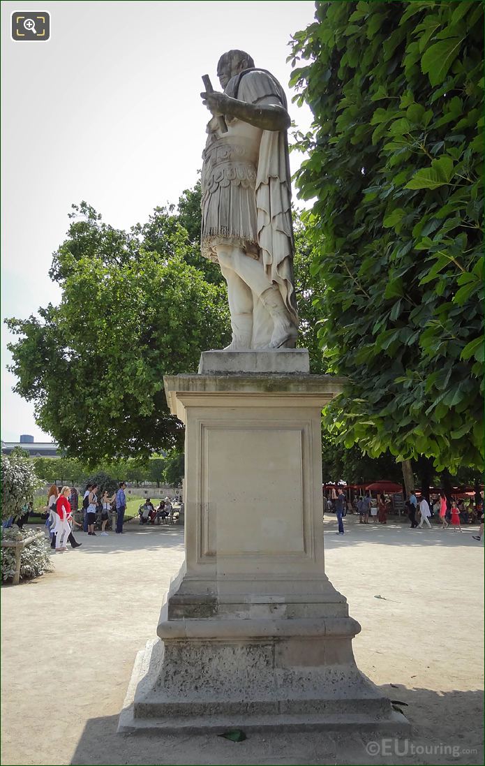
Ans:
{"type": "Polygon", "coordinates": [[[183,434],[163,375],[195,371],[200,352],[230,339],[225,289],[187,264],[174,216],[158,216],[156,248],[153,231],[116,231],[86,203],[73,217],[50,270],[60,305],[7,322],[20,336],[9,346],[15,391],[68,457],[147,458],[183,434]]]}

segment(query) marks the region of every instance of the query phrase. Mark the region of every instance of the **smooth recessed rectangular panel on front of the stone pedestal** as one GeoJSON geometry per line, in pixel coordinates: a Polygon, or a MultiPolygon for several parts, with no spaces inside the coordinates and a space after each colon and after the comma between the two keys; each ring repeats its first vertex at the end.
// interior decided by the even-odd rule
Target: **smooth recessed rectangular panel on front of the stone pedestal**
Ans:
{"type": "Polygon", "coordinates": [[[304,429],[255,419],[201,435],[202,557],[304,555],[304,429]]]}

